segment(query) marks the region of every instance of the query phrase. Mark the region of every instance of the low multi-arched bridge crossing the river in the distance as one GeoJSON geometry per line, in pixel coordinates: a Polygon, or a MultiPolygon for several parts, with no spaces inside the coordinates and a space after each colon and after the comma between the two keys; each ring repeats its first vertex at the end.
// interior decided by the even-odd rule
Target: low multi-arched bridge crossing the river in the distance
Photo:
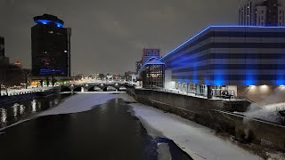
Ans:
{"type": "Polygon", "coordinates": [[[126,90],[126,85],[119,83],[90,83],[90,84],[66,84],[61,85],[61,92],[108,92],[126,90]]]}

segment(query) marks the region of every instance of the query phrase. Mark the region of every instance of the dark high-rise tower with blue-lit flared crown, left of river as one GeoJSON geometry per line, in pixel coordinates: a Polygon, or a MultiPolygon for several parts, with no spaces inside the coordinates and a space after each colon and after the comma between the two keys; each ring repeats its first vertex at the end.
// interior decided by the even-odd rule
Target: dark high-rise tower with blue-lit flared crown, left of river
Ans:
{"type": "Polygon", "coordinates": [[[71,28],[63,28],[63,20],[49,14],[34,18],[31,28],[32,75],[70,76],[71,28]]]}

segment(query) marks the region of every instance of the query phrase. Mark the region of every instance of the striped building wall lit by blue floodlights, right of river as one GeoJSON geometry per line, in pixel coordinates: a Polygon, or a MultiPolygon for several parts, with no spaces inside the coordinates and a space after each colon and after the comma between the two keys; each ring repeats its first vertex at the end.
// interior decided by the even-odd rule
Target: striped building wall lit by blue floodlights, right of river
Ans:
{"type": "Polygon", "coordinates": [[[176,82],[285,84],[285,28],[213,26],[160,59],[176,82]]]}

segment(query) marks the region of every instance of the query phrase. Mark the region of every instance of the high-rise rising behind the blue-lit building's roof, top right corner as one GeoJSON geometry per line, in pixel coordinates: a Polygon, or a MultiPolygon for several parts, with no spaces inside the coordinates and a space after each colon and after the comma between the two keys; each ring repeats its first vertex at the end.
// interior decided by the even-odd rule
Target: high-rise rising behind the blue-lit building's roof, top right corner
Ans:
{"type": "Polygon", "coordinates": [[[278,0],[247,0],[240,4],[240,26],[285,26],[285,9],[278,0]]]}

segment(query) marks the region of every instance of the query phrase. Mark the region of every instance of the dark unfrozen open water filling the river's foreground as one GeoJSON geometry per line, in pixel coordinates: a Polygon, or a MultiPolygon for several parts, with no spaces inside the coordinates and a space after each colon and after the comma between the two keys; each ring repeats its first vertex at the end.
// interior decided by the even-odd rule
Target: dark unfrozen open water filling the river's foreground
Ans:
{"type": "Polygon", "coordinates": [[[129,110],[116,99],[90,111],[15,125],[0,135],[0,159],[152,160],[158,159],[159,143],[169,146],[162,153],[172,159],[191,159],[172,140],[152,139],[129,110]]]}

